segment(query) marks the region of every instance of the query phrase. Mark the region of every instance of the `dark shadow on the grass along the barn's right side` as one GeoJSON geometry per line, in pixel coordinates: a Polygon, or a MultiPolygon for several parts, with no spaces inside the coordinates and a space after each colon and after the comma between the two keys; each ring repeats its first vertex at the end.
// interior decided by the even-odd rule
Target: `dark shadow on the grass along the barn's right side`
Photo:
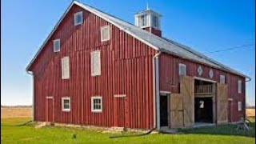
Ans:
{"type": "Polygon", "coordinates": [[[238,125],[203,126],[198,128],[180,129],[185,134],[216,134],[216,135],[238,135],[255,138],[255,122],[250,123],[250,130],[237,130],[238,125]]]}

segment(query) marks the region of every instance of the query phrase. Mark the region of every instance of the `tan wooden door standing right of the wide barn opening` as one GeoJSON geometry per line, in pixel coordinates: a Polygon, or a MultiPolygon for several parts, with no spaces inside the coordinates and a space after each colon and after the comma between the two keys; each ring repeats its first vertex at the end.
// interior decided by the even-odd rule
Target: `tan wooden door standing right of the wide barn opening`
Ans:
{"type": "Polygon", "coordinates": [[[217,123],[228,122],[227,114],[228,98],[227,85],[217,83],[217,123]]]}

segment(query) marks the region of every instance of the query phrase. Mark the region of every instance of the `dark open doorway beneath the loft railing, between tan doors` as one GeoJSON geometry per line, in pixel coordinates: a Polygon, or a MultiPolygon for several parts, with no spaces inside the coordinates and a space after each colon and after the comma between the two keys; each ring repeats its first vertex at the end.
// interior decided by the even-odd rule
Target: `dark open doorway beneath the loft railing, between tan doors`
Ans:
{"type": "Polygon", "coordinates": [[[213,122],[212,98],[194,98],[194,120],[195,122],[213,122]]]}

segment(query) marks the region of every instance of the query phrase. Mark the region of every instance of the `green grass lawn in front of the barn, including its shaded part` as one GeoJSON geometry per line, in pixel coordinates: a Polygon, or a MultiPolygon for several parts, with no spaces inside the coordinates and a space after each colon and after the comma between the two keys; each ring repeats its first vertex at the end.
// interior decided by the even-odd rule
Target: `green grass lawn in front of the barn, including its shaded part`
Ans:
{"type": "Polygon", "coordinates": [[[75,143],[73,134],[77,135],[78,143],[238,143],[255,142],[255,124],[250,132],[236,131],[236,126],[202,127],[181,130],[185,134],[149,134],[141,137],[109,138],[113,135],[95,130],[67,127],[44,127],[35,129],[34,125],[10,126],[26,122],[30,118],[1,119],[1,143],[75,143]]]}

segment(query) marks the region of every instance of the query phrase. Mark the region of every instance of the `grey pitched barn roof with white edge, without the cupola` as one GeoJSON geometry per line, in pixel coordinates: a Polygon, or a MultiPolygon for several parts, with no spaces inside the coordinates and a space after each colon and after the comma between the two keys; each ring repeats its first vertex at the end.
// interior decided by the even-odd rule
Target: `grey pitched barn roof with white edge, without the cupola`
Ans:
{"type": "Polygon", "coordinates": [[[198,53],[197,51],[191,49],[188,46],[183,46],[182,44],[179,44],[178,42],[174,42],[170,39],[161,38],[154,34],[150,34],[148,31],[142,30],[141,28],[138,28],[137,26],[134,26],[133,24],[130,24],[129,22],[125,22],[120,18],[116,18],[110,14],[106,14],[106,13],[102,12],[101,10],[97,10],[91,6],[87,6],[87,5],[85,5],[81,2],[77,2],[77,1],[73,1],[70,4],[69,8],[62,15],[62,18],[60,18],[57,25],[54,26],[54,30],[51,31],[48,38],[46,38],[46,41],[42,44],[41,48],[38,50],[38,53],[32,59],[29,66],[27,66],[27,68],[26,68],[27,71],[29,71],[31,64],[34,62],[35,58],[37,58],[37,56],[40,53],[40,51],[42,50],[42,48],[46,45],[46,42],[50,39],[51,35],[57,29],[58,25],[60,24],[60,22],[62,22],[62,19],[65,18],[66,14],[69,12],[70,8],[73,5],[81,6],[83,9],[90,11],[91,13],[97,15],[100,18],[103,18],[107,22],[110,22],[114,26],[117,26],[120,30],[123,30],[127,34],[132,35],[134,38],[137,38],[138,40],[144,42],[148,46],[151,46],[155,50],[159,50],[159,51],[166,52],[169,54],[174,54],[181,58],[189,59],[194,62],[203,63],[208,66],[212,66],[214,68],[229,71],[230,73],[238,74],[242,77],[249,78],[245,74],[242,74],[242,73],[238,72],[237,70],[233,70],[228,66],[225,66],[219,62],[216,62],[213,59],[206,57],[206,55],[204,55],[204,54],[198,53]]]}

